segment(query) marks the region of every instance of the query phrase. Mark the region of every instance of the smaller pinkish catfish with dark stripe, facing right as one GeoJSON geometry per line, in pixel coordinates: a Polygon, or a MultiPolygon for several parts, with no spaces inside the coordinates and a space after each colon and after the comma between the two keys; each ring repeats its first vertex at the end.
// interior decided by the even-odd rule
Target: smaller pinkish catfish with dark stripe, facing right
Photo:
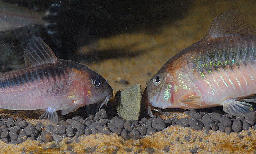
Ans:
{"type": "Polygon", "coordinates": [[[39,37],[29,40],[24,60],[26,68],[0,73],[0,108],[40,109],[40,119],[56,125],[57,110],[65,115],[104,100],[102,106],[113,97],[102,76],[74,61],[57,59],[39,37]]]}

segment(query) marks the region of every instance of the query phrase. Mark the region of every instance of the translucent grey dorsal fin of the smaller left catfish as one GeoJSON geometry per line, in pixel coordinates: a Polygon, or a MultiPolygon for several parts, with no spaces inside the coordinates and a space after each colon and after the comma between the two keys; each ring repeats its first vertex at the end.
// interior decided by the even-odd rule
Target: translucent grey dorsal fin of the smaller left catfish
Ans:
{"type": "Polygon", "coordinates": [[[32,36],[24,51],[25,66],[55,63],[57,57],[52,49],[40,38],[32,36]]]}

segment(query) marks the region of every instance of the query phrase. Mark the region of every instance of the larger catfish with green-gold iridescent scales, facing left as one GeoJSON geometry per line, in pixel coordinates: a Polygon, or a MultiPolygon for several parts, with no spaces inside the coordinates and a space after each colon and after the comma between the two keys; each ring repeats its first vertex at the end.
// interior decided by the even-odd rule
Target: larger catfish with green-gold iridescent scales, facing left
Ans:
{"type": "Polygon", "coordinates": [[[148,82],[144,107],[201,109],[223,106],[232,115],[253,110],[256,99],[256,27],[235,10],[216,16],[207,34],[168,60],[148,82]]]}

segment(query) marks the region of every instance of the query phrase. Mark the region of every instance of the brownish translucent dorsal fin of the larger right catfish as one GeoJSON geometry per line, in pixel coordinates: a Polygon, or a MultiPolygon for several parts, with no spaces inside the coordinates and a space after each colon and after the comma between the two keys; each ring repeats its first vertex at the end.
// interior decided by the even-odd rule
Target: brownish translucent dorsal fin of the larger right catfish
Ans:
{"type": "Polygon", "coordinates": [[[245,21],[235,9],[230,9],[215,17],[204,39],[230,35],[256,36],[256,27],[245,21]]]}

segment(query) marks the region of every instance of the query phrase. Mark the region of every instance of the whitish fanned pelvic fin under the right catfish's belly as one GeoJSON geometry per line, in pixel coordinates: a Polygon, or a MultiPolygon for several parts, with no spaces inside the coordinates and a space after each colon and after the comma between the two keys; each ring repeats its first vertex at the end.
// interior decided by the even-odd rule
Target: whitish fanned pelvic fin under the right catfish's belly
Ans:
{"type": "Polygon", "coordinates": [[[250,103],[245,103],[242,101],[236,101],[232,98],[225,100],[223,103],[223,110],[232,115],[244,115],[246,113],[252,112],[253,107],[250,103]]]}

